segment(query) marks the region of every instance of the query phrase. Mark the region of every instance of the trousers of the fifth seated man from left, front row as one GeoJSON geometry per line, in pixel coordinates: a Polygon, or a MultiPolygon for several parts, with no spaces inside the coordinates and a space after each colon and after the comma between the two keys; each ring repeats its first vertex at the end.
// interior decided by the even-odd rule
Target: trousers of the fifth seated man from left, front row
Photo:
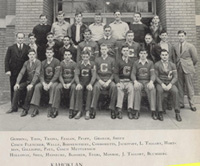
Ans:
{"type": "MultiPolygon", "coordinates": [[[[93,99],[92,99],[92,104],[91,104],[91,107],[95,110],[97,109],[99,95],[101,93],[101,90],[103,89],[105,88],[103,88],[99,82],[95,83],[94,90],[93,90],[93,99]]],[[[114,82],[111,82],[106,89],[109,90],[109,97],[110,97],[109,109],[115,110],[115,104],[116,104],[116,99],[117,99],[117,86],[115,85],[114,82]]]]}

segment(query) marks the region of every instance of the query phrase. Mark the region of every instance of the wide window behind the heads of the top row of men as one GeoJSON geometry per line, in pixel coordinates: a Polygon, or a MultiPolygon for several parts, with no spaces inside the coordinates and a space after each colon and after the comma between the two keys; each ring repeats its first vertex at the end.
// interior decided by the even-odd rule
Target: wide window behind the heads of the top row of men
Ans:
{"type": "Polygon", "coordinates": [[[101,12],[104,22],[109,23],[113,12],[120,10],[122,17],[128,22],[133,17],[133,12],[141,12],[144,19],[151,18],[155,14],[155,0],[55,0],[55,13],[64,11],[66,20],[74,22],[74,14],[82,12],[84,22],[90,24],[94,13],[101,12]]]}

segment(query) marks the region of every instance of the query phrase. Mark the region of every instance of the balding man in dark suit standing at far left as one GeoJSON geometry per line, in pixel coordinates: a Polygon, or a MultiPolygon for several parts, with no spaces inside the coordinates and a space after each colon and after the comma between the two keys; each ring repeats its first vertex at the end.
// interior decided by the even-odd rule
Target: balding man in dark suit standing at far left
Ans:
{"type": "MultiPolygon", "coordinates": [[[[30,47],[24,44],[24,38],[25,34],[18,32],[16,35],[16,44],[8,47],[5,57],[5,73],[10,76],[11,101],[17,76],[24,62],[28,60],[28,50],[30,47]]],[[[9,110],[8,113],[10,113],[10,111],[12,110],[9,110]]]]}

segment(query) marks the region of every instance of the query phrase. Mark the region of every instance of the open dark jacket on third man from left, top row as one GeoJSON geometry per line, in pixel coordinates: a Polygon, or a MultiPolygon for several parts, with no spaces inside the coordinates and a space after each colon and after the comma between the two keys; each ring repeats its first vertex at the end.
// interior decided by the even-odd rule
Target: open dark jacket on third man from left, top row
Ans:
{"type": "Polygon", "coordinates": [[[82,42],[84,40],[84,31],[85,29],[87,28],[87,25],[85,24],[82,24],[81,25],[81,28],[80,28],[80,41],[79,42],[76,42],[76,24],[73,24],[71,27],[70,27],[70,36],[72,38],[72,41],[74,42],[75,45],[78,45],[80,42],[82,42]]]}

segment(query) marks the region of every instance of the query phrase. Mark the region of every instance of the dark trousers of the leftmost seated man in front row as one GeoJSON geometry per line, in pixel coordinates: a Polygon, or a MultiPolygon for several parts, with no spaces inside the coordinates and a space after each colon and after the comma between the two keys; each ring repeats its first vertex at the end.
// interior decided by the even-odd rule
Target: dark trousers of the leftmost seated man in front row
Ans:
{"type": "MultiPolygon", "coordinates": [[[[12,109],[18,109],[20,93],[23,90],[26,90],[26,87],[28,86],[28,84],[26,82],[23,82],[19,86],[20,88],[14,91],[14,94],[13,94],[12,109]]],[[[30,102],[33,96],[33,92],[34,92],[34,87],[30,91],[26,90],[26,97],[25,97],[24,105],[22,106],[22,108],[25,109],[26,111],[28,111],[30,108],[30,102]]]]}

